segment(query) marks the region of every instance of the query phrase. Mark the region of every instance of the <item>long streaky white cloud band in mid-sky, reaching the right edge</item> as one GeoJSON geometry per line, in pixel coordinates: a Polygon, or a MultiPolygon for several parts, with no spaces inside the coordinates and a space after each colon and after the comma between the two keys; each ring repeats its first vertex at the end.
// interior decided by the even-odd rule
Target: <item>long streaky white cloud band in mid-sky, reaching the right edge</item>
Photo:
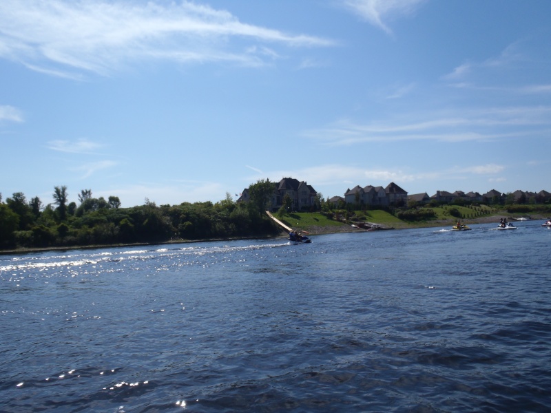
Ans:
{"type": "Polygon", "coordinates": [[[517,136],[542,136],[551,131],[551,107],[506,107],[477,110],[457,109],[453,115],[440,112],[433,118],[411,114],[409,118],[391,118],[386,123],[360,123],[337,120],[326,127],[305,131],[304,136],[326,145],[353,145],[361,142],[398,142],[435,140],[465,142],[497,140],[517,136]]]}

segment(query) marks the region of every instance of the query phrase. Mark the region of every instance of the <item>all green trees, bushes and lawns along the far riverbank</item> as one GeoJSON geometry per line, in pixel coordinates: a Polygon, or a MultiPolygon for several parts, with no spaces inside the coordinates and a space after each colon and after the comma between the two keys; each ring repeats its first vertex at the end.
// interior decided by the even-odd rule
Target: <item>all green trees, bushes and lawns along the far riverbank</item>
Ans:
{"type": "MultiPolygon", "coordinates": [[[[259,180],[249,188],[250,202],[234,202],[227,193],[224,200],[216,203],[157,206],[146,198],[143,205],[131,208],[122,208],[116,196],[107,200],[94,198],[90,189],[79,193],[76,204],[67,202],[67,187],[54,187],[53,202],[45,206],[38,197],[27,200],[20,192],[6,202],[0,194],[0,250],[275,236],[281,229],[264,213],[272,193],[273,182],[259,180]]],[[[278,218],[288,226],[310,233],[331,233],[372,224],[406,229],[446,225],[457,220],[469,223],[496,215],[544,218],[551,215],[551,204],[431,201],[426,205],[410,202],[401,207],[377,208],[344,202],[334,205],[321,200],[318,211],[287,211],[280,209],[278,218]]]]}

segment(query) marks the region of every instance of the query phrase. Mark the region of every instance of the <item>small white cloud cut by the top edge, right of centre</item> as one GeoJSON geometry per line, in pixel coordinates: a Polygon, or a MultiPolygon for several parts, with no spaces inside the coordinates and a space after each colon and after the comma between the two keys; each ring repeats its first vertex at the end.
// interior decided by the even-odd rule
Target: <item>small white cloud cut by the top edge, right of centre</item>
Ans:
{"type": "Polygon", "coordinates": [[[377,28],[391,34],[392,30],[384,19],[400,14],[410,14],[425,0],[344,0],[341,5],[368,21],[377,28]]]}

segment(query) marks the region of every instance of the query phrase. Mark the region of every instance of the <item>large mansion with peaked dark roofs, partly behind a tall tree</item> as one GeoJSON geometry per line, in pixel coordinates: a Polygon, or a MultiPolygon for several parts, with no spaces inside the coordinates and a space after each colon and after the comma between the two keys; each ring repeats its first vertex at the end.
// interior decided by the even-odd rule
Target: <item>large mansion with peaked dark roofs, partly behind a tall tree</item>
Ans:
{"type": "MultiPolygon", "coordinates": [[[[293,210],[302,211],[310,209],[315,205],[315,198],[318,193],[304,181],[294,178],[283,178],[280,182],[273,182],[273,194],[271,196],[271,211],[278,211],[282,207],[283,198],[289,195],[293,200],[293,210]]],[[[251,200],[249,188],[243,189],[237,202],[248,202],[251,200]]]]}

